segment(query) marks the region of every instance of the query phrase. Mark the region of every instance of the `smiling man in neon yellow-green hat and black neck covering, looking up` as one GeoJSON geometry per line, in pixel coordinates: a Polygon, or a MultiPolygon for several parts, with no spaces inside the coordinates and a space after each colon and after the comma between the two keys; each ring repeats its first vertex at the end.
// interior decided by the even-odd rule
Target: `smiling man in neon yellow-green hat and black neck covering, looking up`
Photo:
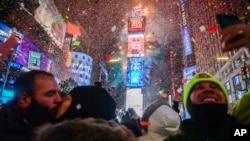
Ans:
{"type": "Polygon", "coordinates": [[[198,73],[184,89],[183,104],[191,118],[181,123],[181,134],[165,141],[227,141],[229,125],[228,93],[224,85],[209,73],[198,73]]]}

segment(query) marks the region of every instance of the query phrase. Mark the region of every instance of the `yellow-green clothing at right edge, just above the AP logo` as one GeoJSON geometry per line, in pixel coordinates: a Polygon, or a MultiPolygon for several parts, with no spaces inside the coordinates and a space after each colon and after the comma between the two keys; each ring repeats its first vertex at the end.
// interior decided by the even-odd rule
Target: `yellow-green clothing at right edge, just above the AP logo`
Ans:
{"type": "Polygon", "coordinates": [[[232,116],[239,124],[250,124],[250,91],[233,108],[232,116]]]}

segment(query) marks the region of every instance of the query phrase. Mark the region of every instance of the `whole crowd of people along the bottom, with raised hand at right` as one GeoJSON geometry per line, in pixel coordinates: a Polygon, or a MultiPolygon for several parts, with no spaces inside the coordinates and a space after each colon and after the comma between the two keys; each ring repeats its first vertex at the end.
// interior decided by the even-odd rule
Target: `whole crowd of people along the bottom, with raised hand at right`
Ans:
{"type": "MultiPolygon", "coordinates": [[[[223,52],[250,48],[250,25],[220,33],[223,52]]],[[[0,110],[1,141],[227,141],[230,125],[250,123],[250,92],[231,114],[225,86],[206,72],[195,74],[184,88],[183,104],[191,115],[185,120],[178,106],[159,100],[139,121],[119,123],[116,103],[104,88],[78,86],[62,96],[53,74],[41,70],[21,74],[14,89],[13,100],[0,110]]]]}

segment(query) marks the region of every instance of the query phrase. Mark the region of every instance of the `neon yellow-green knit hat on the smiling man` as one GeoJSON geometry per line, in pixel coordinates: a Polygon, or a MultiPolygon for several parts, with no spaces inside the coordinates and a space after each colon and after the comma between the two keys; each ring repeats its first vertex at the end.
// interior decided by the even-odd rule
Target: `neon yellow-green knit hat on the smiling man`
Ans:
{"type": "MultiPolygon", "coordinates": [[[[228,92],[227,92],[225,86],[213,75],[211,75],[209,73],[201,72],[201,73],[197,73],[195,76],[193,76],[184,89],[183,103],[184,103],[184,106],[186,109],[188,107],[187,101],[188,101],[188,98],[191,94],[191,91],[192,91],[193,87],[199,82],[213,82],[213,83],[217,84],[220,87],[220,89],[223,91],[223,93],[225,94],[225,97],[226,97],[226,100],[228,103],[228,92]]],[[[189,111],[189,109],[187,109],[187,110],[189,111]]]]}

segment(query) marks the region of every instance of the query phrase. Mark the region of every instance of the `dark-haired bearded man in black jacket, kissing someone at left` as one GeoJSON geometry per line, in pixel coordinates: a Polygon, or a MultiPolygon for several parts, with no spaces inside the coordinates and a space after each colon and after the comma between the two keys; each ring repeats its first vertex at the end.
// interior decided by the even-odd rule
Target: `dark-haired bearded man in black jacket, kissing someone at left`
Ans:
{"type": "Polygon", "coordinates": [[[1,141],[30,141],[36,127],[53,122],[61,103],[53,74],[32,70],[14,83],[15,96],[0,110],[1,141]]]}

